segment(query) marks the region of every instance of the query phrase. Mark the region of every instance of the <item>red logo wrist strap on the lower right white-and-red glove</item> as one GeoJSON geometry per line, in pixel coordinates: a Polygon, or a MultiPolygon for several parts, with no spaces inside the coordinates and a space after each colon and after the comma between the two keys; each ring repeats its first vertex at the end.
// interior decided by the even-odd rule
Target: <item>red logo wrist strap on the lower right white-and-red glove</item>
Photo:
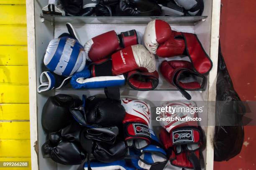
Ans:
{"type": "Polygon", "coordinates": [[[171,132],[172,145],[198,144],[201,142],[201,131],[197,128],[177,128],[171,132]]]}

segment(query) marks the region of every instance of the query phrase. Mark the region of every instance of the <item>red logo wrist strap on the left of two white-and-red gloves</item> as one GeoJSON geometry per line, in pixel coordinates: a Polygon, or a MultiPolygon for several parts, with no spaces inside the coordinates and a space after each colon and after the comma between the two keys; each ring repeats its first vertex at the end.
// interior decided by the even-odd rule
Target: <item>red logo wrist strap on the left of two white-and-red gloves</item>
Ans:
{"type": "Polygon", "coordinates": [[[134,138],[151,139],[149,128],[147,125],[139,122],[128,122],[124,124],[124,130],[127,136],[134,138]]]}

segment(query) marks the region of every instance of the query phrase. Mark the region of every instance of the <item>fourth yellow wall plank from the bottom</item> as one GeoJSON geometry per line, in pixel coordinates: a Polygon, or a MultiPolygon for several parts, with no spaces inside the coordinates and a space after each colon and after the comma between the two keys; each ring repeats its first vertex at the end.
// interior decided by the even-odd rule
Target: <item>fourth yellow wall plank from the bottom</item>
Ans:
{"type": "Polygon", "coordinates": [[[29,120],[29,104],[0,104],[0,120],[29,120]]]}

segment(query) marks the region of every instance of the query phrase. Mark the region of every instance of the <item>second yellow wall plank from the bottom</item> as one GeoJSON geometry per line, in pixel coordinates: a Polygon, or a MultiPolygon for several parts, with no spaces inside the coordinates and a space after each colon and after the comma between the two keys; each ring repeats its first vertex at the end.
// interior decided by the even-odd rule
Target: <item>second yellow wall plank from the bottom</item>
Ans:
{"type": "Polygon", "coordinates": [[[30,157],[30,140],[0,140],[0,157],[30,157]]]}

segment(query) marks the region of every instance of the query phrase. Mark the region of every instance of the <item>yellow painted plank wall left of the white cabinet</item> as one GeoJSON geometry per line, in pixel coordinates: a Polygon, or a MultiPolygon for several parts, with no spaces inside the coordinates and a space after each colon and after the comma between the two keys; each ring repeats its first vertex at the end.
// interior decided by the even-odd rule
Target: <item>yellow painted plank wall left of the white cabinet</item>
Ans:
{"type": "Polygon", "coordinates": [[[31,165],[26,0],[0,0],[0,16],[0,161],[31,165]]]}

